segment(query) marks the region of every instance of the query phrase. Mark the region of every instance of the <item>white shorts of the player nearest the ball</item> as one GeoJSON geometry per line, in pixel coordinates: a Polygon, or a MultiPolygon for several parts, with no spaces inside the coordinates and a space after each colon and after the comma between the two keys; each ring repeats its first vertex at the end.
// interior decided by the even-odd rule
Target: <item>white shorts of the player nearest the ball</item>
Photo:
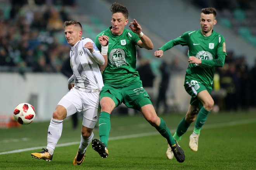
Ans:
{"type": "Polygon", "coordinates": [[[100,93],[82,92],[76,88],[72,88],[62,97],[58,105],[62,105],[67,110],[67,117],[76,112],[83,113],[83,126],[94,128],[99,118],[99,97],[100,93]]]}

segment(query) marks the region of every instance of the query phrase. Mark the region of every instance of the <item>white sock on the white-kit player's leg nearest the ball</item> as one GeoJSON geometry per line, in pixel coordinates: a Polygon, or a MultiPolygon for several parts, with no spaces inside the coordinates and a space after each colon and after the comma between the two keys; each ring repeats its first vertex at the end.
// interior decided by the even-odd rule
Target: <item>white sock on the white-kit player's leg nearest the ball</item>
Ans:
{"type": "Polygon", "coordinates": [[[53,155],[55,146],[57,142],[61,138],[62,133],[62,122],[63,120],[57,120],[52,118],[50,121],[50,125],[48,128],[48,135],[47,135],[47,149],[50,155],[53,155]]]}

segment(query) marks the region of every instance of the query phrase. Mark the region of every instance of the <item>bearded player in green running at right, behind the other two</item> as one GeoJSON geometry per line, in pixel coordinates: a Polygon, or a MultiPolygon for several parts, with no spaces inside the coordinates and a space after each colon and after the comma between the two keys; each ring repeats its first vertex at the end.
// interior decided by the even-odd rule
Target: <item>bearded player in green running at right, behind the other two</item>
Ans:
{"type": "MultiPolygon", "coordinates": [[[[173,137],[179,141],[190,124],[196,120],[194,131],[189,138],[189,147],[193,151],[198,149],[200,130],[213,109],[214,101],[210,92],[213,88],[215,67],[222,67],[227,56],[224,37],[213,31],[216,22],[216,9],[203,8],[200,18],[201,29],[185,32],[182,36],[164,44],[154,53],[156,57],[161,57],[164,51],[178,44],[189,47],[189,66],[184,87],[191,96],[191,100],[189,110],[178,124],[173,137]]],[[[166,155],[168,159],[173,159],[170,146],[168,146],[166,155]]]]}

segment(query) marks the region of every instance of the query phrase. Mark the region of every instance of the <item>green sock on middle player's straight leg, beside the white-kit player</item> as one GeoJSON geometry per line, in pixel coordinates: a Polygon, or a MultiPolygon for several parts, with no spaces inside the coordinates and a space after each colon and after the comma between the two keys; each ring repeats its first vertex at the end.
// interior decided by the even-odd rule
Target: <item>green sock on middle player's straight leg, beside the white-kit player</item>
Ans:
{"type": "Polygon", "coordinates": [[[107,141],[109,139],[111,124],[110,124],[110,114],[107,112],[100,112],[99,117],[99,135],[100,141],[104,143],[107,147],[107,141]]]}

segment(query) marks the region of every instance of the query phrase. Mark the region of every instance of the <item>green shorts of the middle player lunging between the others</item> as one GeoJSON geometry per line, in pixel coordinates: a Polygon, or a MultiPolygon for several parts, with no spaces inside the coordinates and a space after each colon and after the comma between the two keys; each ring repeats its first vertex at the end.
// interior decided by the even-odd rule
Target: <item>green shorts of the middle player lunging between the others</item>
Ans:
{"type": "Polygon", "coordinates": [[[147,104],[152,104],[149,94],[142,87],[141,82],[135,82],[128,86],[104,85],[100,91],[102,97],[110,97],[114,100],[116,107],[124,103],[128,108],[140,111],[140,108],[147,104]]]}

